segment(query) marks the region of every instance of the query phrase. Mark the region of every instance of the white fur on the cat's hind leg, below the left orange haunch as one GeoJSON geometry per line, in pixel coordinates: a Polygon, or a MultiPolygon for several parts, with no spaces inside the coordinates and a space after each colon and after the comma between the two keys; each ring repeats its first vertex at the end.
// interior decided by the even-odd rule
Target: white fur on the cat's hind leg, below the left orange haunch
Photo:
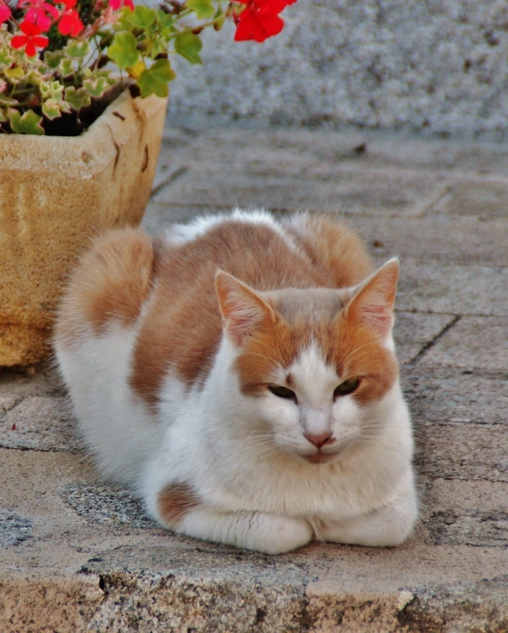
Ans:
{"type": "Polygon", "coordinates": [[[100,470],[131,488],[161,440],[161,428],[127,385],[134,328],[111,323],[103,335],[58,346],[79,430],[100,470]]]}

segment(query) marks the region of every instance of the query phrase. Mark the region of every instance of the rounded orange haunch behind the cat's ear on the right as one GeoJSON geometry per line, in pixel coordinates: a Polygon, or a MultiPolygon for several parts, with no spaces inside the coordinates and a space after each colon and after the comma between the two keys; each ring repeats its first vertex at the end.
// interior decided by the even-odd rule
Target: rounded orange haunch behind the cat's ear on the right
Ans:
{"type": "Polygon", "coordinates": [[[332,216],[301,213],[286,220],[285,227],[335,287],[354,286],[374,270],[360,237],[332,216]]]}

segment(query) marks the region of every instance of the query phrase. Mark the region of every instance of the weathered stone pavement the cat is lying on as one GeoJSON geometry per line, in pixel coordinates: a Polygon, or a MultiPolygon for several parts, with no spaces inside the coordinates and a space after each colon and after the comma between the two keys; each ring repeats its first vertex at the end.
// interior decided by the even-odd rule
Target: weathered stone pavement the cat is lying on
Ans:
{"type": "Polygon", "coordinates": [[[144,225],[328,210],[399,255],[422,520],[395,549],[173,536],[100,482],[51,367],[0,375],[0,632],[508,631],[508,145],[167,127],[144,225]]]}

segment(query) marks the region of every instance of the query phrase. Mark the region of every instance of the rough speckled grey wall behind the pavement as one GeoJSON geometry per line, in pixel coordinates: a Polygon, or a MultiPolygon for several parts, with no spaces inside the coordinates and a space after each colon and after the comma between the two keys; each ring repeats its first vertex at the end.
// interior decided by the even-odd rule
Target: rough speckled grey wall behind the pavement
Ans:
{"type": "MultiPolygon", "coordinates": [[[[433,133],[508,130],[506,0],[299,0],[259,45],[205,33],[170,112],[433,133]]],[[[176,60],[175,60],[176,61],[176,60]]]]}

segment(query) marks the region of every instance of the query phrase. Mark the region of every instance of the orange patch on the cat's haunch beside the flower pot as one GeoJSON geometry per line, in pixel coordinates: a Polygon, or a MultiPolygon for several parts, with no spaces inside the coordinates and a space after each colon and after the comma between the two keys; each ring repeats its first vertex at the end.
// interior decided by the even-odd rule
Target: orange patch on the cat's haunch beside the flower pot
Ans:
{"type": "Polygon", "coordinates": [[[70,280],[56,339],[71,344],[88,326],[100,332],[113,319],[134,323],[152,287],[152,264],[152,243],[141,231],[116,230],[95,240],[70,280]]]}

